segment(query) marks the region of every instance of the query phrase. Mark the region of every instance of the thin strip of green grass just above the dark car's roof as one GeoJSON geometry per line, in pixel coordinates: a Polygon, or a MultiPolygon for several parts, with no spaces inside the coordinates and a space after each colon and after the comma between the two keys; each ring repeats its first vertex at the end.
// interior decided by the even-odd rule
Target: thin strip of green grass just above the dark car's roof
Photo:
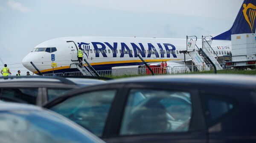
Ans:
{"type": "MultiPolygon", "coordinates": [[[[214,71],[193,72],[193,73],[178,73],[178,74],[214,74],[214,71]]],[[[217,70],[217,74],[244,74],[244,75],[256,75],[256,70],[217,70]]],[[[172,74],[177,75],[177,74],[172,74]]],[[[128,78],[136,76],[150,76],[150,75],[123,75],[123,76],[105,76],[112,79],[128,78]]]]}

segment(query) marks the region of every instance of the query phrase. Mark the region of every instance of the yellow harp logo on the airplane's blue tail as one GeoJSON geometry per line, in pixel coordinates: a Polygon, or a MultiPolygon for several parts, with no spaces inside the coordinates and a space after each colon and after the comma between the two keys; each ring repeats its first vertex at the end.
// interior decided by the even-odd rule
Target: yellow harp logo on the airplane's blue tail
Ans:
{"type": "Polygon", "coordinates": [[[249,3],[246,6],[246,4],[244,3],[243,7],[244,7],[244,9],[243,9],[244,18],[248,22],[248,24],[250,25],[251,31],[253,33],[253,25],[254,25],[254,20],[255,20],[255,16],[256,16],[256,6],[254,6],[251,3],[249,3]],[[247,11],[249,11],[248,15],[247,15],[247,11]]]}

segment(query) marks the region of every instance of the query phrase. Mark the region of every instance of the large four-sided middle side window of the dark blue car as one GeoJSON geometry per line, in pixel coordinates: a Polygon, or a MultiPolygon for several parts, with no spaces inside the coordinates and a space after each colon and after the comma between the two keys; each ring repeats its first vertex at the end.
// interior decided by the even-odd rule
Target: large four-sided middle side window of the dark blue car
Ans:
{"type": "Polygon", "coordinates": [[[120,135],[140,135],[189,130],[190,93],[133,89],[128,95],[120,135]]]}

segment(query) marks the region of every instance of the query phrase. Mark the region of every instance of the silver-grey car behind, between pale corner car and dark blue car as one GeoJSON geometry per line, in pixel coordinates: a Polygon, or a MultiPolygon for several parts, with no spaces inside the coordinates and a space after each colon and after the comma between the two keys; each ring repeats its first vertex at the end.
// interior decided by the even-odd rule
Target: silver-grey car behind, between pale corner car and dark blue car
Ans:
{"type": "Polygon", "coordinates": [[[106,81],[47,76],[11,77],[0,80],[0,100],[42,106],[68,90],[106,81]]]}

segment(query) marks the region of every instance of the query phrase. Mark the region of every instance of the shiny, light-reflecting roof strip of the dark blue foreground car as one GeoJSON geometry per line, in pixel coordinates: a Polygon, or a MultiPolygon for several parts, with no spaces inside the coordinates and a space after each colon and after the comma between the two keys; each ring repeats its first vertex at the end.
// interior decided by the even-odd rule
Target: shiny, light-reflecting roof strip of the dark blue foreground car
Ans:
{"type": "Polygon", "coordinates": [[[215,75],[215,74],[192,74],[192,75],[164,75],[142,76],[115,79],[108,83],[136,83],[136,82],[163,82],[163,83],[195,83],[195,84],[219,84],[219,85],[247,85],[256,87],[256,76],[248,75],[215,75]]]}

